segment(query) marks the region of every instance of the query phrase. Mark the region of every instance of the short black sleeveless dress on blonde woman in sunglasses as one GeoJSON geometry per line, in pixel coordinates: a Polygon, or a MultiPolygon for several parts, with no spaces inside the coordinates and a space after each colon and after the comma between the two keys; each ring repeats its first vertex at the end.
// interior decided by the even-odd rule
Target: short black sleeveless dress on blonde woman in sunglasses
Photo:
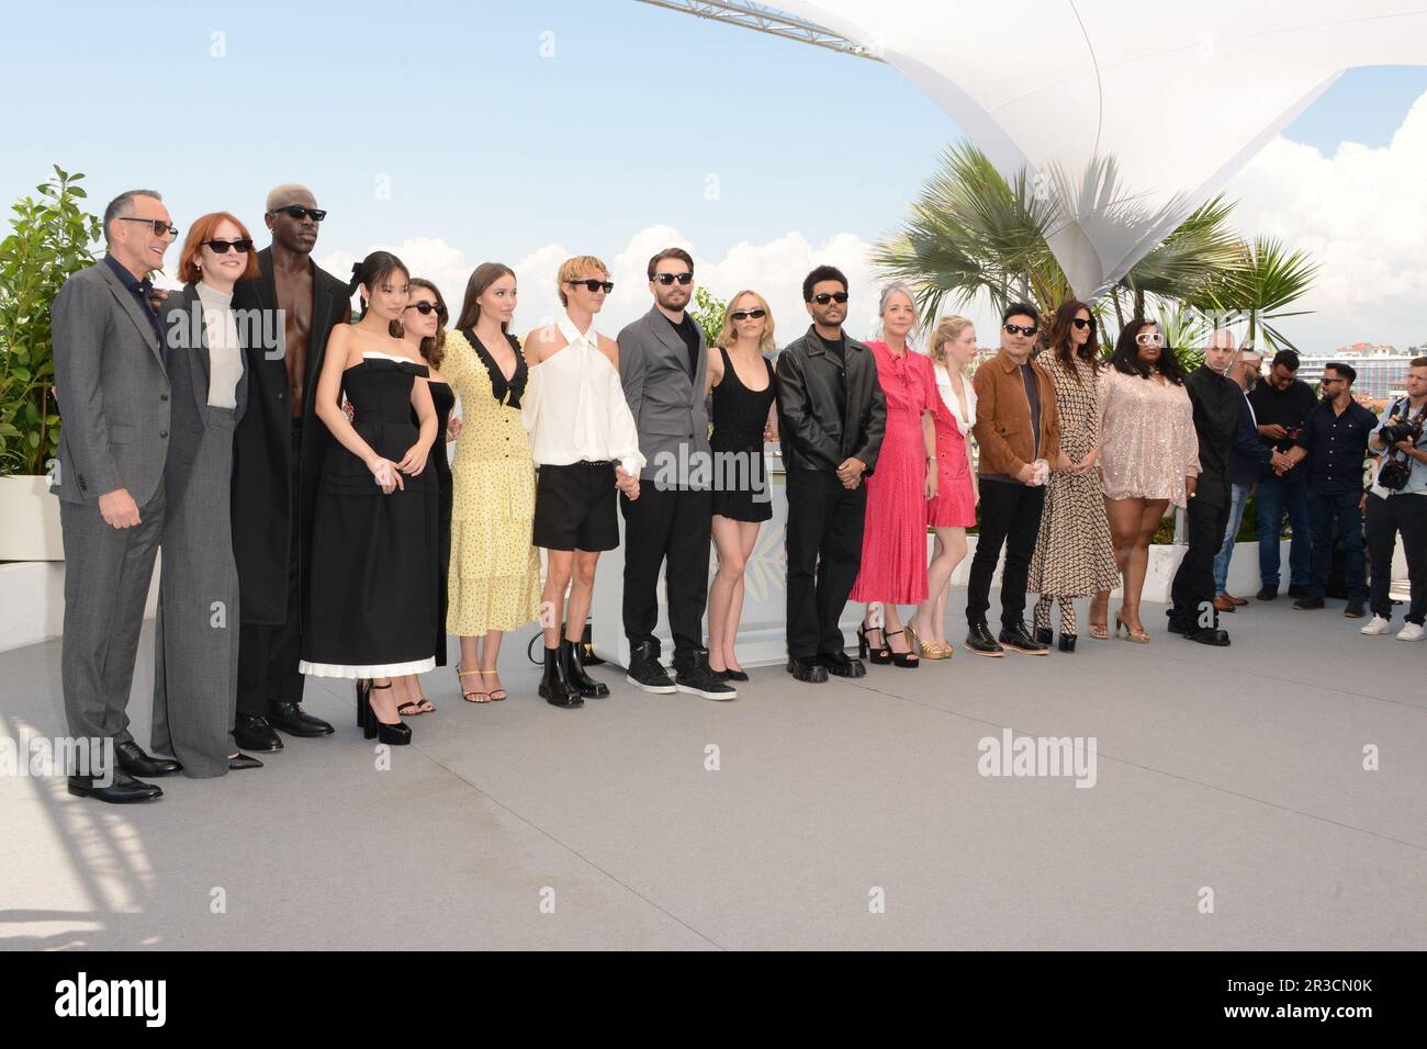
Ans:
{"type": "Polygon", "coordinates": [[[723,381],[714,387],[714,512],[733,521],[768,521],[773,504],[768,492],[768,467],[763,462],[763,425],[773,402],[773,365],[763,358],[768,385],[749,390],[733,370],[728,350],[723,354],[723,381]],[[723,455],[719,455],[723,452],[723,455]]]}

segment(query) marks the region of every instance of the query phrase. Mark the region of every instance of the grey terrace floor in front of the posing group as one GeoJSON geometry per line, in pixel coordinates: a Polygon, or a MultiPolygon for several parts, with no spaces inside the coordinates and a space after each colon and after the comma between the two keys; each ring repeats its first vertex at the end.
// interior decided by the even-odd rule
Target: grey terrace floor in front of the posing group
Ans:
{"type": "MultiPolygon", "coordinates": [[[[0,946],[1423,949],[1427,644],[1340,611],[1256,602],[1207,649],[1146,605],[1147,647],[821,686],[766,667],[731,704],[601,667],[582,711],[535,698],[522,632],[511,699],[462,704],[442,668],[390,771],[350,688],[313,682],[335,738],[157,804],[0,776],[0,946]],[[1003,728],[1095,736],[1095,786],[979,775],[1003,728]]],[[[59,659],[0,654],[4,735],[63,734],[59,659]]]]}

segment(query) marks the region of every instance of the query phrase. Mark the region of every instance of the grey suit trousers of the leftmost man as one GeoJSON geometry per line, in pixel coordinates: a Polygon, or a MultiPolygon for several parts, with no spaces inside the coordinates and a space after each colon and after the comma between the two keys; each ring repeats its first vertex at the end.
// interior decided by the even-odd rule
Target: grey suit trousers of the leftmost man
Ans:
{"type": "Polygon", "coordinates": [[[97,502],[60,502],[64,537],[64,639],[60,682],[70,735],[126,744],[144,599],[164,527],[163,485],[138,508],[140,522],[114,528],[97,502]]]}

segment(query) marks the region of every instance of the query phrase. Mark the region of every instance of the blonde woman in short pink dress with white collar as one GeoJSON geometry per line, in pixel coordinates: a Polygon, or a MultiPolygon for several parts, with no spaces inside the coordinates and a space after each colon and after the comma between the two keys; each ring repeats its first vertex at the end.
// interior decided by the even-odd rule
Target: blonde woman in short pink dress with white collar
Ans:
{"type": "Polygon", "coordinates": [[[946,594],[966,557],[966,529],[976,524],[976,474],[966,435],[976,424],[976,390],[966,370],[976,360],[976,328],[965,317],[943,317],[932,334],[936,373],[936,495],[926,501],[926,524],[936,534],[926,567],[926,601],[916,607],[912,632],[923,659],[950,659],[946,594]]]}

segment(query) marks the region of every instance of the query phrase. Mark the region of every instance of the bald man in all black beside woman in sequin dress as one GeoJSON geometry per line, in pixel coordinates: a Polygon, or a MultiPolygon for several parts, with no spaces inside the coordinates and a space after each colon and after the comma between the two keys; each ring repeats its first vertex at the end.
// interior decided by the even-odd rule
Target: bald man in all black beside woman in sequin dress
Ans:
{"type": "Polygon", "coordinates": [[[1229,525],[1229,455],[1244,408],[1243,391],[1224,374],[1233,358],[1233,338],[1216,333],[1204,350],[1204,363],[1184,382],[1194,405],[1200,472],[1186,512],[1189,549],[1174,572],[1173,607],[1167,612],[1172,632],[1220,648],[1229,644],[1229,632],[1219,628],[1214,608],[1214,554],[1229,525]]]}

